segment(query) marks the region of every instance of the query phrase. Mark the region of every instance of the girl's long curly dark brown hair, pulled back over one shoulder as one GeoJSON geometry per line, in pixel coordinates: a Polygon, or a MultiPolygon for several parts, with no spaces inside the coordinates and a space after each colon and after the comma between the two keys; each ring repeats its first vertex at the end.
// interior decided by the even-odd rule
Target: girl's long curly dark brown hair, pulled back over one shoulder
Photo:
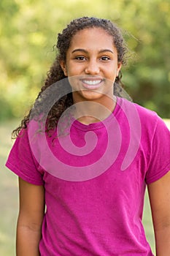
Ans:
{"type": "MultiPolygon", "coordinates": [[[[49,90],[47,90],[47,93],[45,93],[45,90],[49,86],[52,86],[53,83],[63,80],[63,78],[66,78],[66,76],[63,73],[63,70],[61,69],[60,61],[66,61],[66,53],[67,53],[67,50],[69,49],[69,45],[72,41],[72,37],[74,36],[74,34],[77,33],[77,31],[80,31],[82,29],[88,29],[88,28],[101,28],[101,29],[104,29],[104,31],[107,31],[107,33],[112,36],[113,43],[115,45],[115,48],[117,49],[118,62],[125,64],[126,62],[125,53],[127,53],[128,50],[125,45],[122,33],[120,29],[117,28],[115,23],[112,23],[112,21],[107,19],[93,18],[93,17],[90,17],[90,18],[82,17],[82,18],[77,18],[72,20],[72,22],[69,23],[69,25],[66,26],[65,29],[63,29],[62,33],[58,34],[58,41],[57,41],[57,44],[55,45],[56,47],[55,61],[53,62],[52,67],[50,67],[49,72],[47,72],[47,78],[45,80],[45,84],[44,86],[42,86],[42,89],[39,92],[36,98],[36,101],[34,103],[34,106],[31,108],[28,115],[23,118],[20,126],[12,132],[12,138],[17,138],[20,133],[20,130],[26,129],[31,116],[43,115],[44,113],[43,111],[45,110],[45,105],[43,105],[43,102],[44,100],[46,100],[46,103],[48,104],[48,102],[50,102],[50,99],[51,99],[50,97],[51,91],[49,93],[49,90]],[[35,114],[31,115],[31,113],[34,113],[34,112],[35,114]]],[[[117,78],[115,79],[114,94],[119,97],[124,97],[121,90],[123,86],[121,82],[121,78],[122,78],[122,74],[120,72],[117,78]]],[[[64,83],[64,86],[67,87],[67,89],[70,87],[69,83],[64,83]]],[[[58,90],[57,91],[58,96],[63,95],[62,83],[57,84],[57,90],[58,90]]],[[[55,104],[47,114],[47,122],[46,122],[47,133],[55,129],[62,113],[66,110],[66,108],[69,108],[71,105],[73,105],[72,93],[69,93],[66,95],[64,94],[63,97],[58,98],[57,102],[55,102],[55,104]]]]}

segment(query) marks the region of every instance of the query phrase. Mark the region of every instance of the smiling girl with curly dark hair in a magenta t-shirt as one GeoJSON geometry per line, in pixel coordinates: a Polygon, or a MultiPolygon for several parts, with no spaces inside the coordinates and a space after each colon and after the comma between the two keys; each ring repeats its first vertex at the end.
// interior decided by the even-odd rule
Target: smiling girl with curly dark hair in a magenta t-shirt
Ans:
{"type": "Polygon", "coordinates": [[[19,176],[17,255],[152,255],[142,226],[147,184],[156,253],[169,256],[169,129],[122,97],[120,30],[78,18],[58,34],[57,50],[7,160],[19,176]]]}

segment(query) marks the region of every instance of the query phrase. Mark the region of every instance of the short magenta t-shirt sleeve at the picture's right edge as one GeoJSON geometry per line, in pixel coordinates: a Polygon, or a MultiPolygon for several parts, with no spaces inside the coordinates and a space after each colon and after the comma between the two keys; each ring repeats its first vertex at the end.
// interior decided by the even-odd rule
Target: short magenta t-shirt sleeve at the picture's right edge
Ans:
{"type": "Polygon", "coordinates": [[[147,184],[157,181],[170,170],[170,131],[164,121],[159,116],[157,118],[152,131],[150,162],[145,178],[147,184]]]}

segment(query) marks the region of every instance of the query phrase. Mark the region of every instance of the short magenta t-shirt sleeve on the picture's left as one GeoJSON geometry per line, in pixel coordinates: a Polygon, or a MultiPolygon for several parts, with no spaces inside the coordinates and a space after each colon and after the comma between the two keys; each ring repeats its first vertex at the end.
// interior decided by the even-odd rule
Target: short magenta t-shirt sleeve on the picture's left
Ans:
{"type": "Polygon", "coordinates": [[[9,152],[6,166],[28,183],[35,185],[44,184],[43,174],[39,171],[38,164],[31,152],[27,129],[23,129],[15,140],[9,152]]]}

